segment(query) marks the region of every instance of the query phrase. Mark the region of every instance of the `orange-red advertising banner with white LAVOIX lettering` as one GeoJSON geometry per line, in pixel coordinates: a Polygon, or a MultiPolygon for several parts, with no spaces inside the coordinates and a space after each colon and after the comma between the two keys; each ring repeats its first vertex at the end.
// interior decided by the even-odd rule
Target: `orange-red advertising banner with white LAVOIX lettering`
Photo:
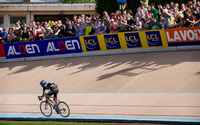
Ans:
{"type": "Polygon", "coordinates": [[[169,46],[200,45],[200,27],[165,30],[169,46]]]}

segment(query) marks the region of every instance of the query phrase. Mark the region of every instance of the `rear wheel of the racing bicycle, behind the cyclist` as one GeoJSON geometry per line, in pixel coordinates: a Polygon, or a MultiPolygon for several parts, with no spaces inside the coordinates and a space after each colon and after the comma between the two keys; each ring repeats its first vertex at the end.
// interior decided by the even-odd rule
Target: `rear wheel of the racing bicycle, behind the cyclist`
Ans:
{"type": "Polygon", "coordinates": [[[69,114],[70,114],[69,106],[65,102],[60,101],[58,103],[58,109],[59,109],[59,114],[62,117],[68,117],[69,116],[69,114]]]}

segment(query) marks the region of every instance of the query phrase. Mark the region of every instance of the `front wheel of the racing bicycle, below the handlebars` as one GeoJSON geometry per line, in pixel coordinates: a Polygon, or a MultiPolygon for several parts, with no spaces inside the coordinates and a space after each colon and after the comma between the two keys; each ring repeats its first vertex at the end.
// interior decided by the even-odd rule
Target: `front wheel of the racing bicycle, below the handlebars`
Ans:
{"type": "Polygon", "coordinates": [[[52,114],[52,107],[48,102],[42,101],[40,103],[40,111],[44,116],[49,117],[52,114]]]}

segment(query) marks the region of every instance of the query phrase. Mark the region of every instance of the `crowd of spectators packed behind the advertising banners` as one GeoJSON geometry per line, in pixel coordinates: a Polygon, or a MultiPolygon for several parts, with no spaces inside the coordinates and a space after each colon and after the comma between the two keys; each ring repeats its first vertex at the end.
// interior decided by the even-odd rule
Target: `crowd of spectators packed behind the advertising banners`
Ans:
{"type": "Polygon", "coordinates": [[[187,3],[170,2],[165,5],[149,4],[148,0],[140,0],[140,7],[133,14],[132,10],[124,10],[108,14],[107,11],[87,17],[74,15],[73,20],[66,22],[57,20],[32,21],[28,26],[23,21],[16,22],[12,28],[0,27],[0,42],[26,42],[46,39],[55,39],[72,36],[98,35],[105,33],[157,30],[169,28],[193,27],[200,21],[200,1],[187,3]]]}

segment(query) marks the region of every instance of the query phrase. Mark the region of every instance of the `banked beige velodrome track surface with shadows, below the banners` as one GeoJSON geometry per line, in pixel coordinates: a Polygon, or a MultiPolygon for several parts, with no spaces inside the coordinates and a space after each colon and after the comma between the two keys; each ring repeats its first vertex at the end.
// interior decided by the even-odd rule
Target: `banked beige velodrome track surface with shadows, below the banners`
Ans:
{"type": "Polygon", "coordinates": [[[71,110],[49,119],[200,123],[200,51],[0,63],[0,118],[45,118],[43,79],[71,110]]]}

